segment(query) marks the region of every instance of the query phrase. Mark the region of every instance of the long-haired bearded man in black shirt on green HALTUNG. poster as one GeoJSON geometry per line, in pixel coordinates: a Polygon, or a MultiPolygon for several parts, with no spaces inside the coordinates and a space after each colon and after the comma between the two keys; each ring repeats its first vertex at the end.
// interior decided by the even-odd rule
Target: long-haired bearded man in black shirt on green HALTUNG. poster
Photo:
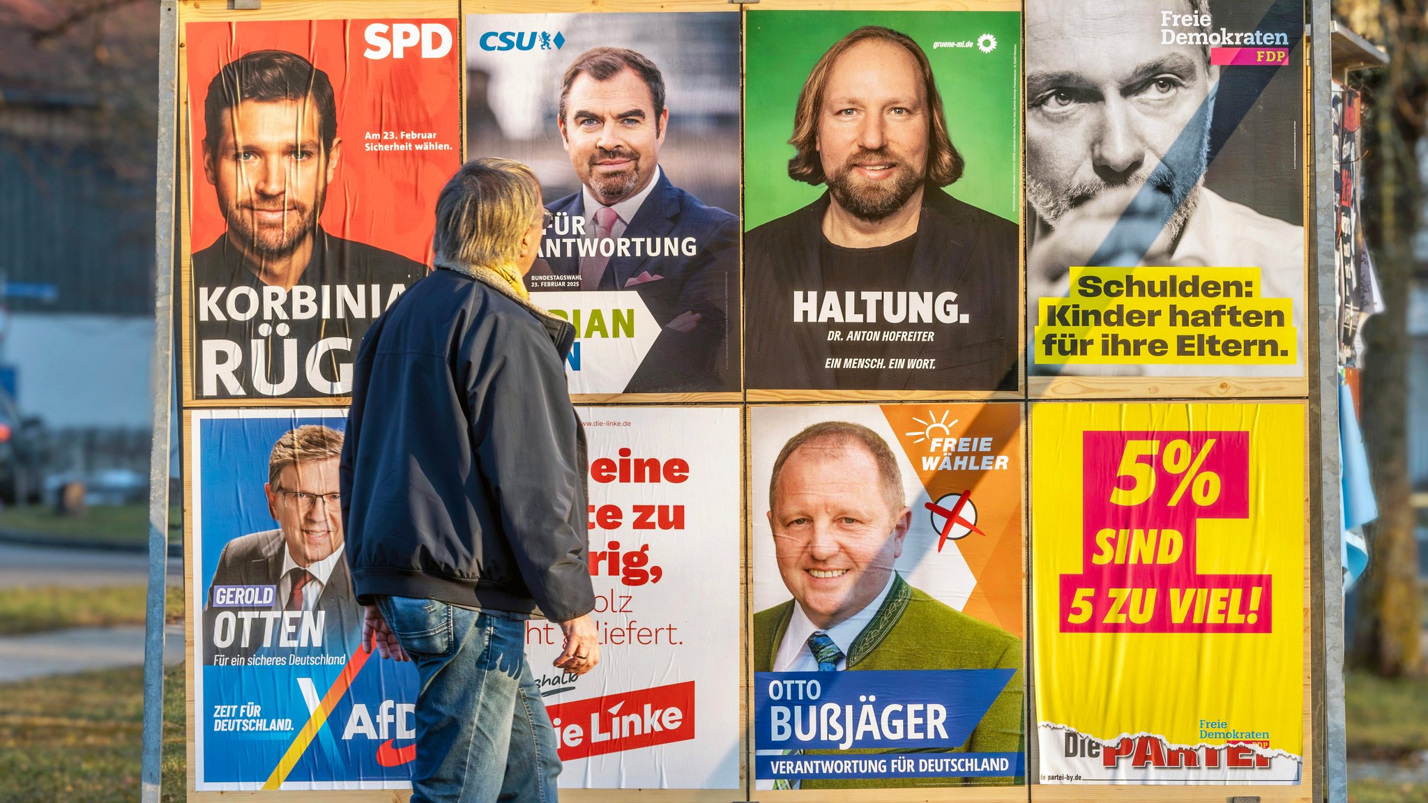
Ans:
{"type": "Polygon", "coordinates": [[[788,176],[828,191],[747,236],[748,386],[1015,389],[1017,226],[942,191],[964,163],[922,49],[877,26],[844,36],[788,141],[788,176]],[[914,296],[955,313],[918,319],[914,296]],[[875,337],[843,343],[860,330],[875,337]]]}

